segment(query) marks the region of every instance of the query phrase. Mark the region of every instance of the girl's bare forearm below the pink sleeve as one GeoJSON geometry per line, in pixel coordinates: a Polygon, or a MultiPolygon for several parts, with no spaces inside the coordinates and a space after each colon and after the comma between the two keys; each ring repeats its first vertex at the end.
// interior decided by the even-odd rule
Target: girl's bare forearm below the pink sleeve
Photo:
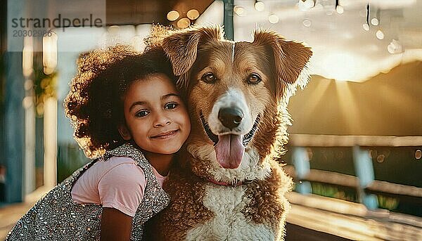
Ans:
{"type": "Polygon", "coordinates": [[[117,209],[103,207],[101,218],[101,241],[130,240],[132,216],[117,209]]]}

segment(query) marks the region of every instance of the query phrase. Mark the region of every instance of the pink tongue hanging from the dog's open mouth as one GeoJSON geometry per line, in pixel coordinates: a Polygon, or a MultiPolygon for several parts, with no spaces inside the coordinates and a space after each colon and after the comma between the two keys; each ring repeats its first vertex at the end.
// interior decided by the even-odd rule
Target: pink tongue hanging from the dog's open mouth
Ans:
{"type": "Polygon", "coordinates": [[[218,136],[218,143],[215,145],[217,162],[224,168],[236,169],[242,162],[245,147],[242,144],[242,135],[221,135],[218,136]]]}

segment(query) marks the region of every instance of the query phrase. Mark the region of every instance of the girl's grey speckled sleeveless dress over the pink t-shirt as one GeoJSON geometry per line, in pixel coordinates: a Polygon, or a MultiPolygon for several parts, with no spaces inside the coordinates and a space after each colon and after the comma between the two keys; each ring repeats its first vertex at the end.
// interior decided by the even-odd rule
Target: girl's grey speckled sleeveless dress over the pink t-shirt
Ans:
{"type": "Polygon", "coordinates": [[[41,198],[15,224],[6,241],[11,240],[100,240],[101,204],[77,204],[72,201],[72,185],[84,171],[95,162],[107,161],[110,157],[130,157],[141,167],[146,178],[143,200],[132,220],[131,240],[142,240],[144,224],[170,202],[170,197],[160,187],[153,174],[151,164],[142,152],[130,143],[106,152],[103,157],[94,159],[85,167],[57,185],[41,198]]]}

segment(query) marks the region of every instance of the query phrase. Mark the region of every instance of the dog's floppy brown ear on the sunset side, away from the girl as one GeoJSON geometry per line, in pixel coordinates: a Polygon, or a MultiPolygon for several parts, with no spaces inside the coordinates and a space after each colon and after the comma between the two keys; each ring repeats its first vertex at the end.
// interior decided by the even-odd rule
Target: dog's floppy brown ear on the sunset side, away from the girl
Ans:
{"type": "Polygon", "coordinates": [[[286,41],[275,32],[262,30],[255,31],[253,43],[269,48],[269,54],[274,56],[276,96],[284,94],[285,84],[307,84],[307,74],[301,76],[301,73],[312,56],[309,47],[295,41],[286,41]]]}

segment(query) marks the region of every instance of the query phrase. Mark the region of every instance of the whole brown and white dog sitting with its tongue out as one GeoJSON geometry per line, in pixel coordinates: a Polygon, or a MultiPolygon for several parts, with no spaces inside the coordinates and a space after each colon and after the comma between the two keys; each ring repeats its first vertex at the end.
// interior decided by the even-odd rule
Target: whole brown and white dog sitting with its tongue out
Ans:
{"type": "Polygon", "coordinates": [[[170,206],[146,230],[154,240],[283,240],[292,181],[276,159],[312,51],[274,32],[255,31],[252,42],[223,35],[190,27],[162,41],[192,128],[164,184],[170,206]]]}

